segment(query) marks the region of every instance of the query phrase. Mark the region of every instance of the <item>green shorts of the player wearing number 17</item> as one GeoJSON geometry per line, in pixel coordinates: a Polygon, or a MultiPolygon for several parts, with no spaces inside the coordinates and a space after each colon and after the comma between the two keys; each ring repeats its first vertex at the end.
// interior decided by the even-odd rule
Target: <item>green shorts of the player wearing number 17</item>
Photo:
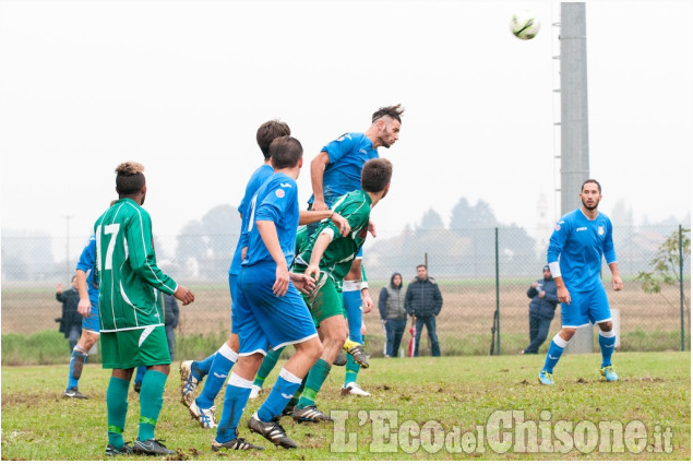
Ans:
{"type": "Polygon", "coordinates": [[[138,366],[171,364],[164,325],[101,332],[100,338],[104,369],[130,369],[138,366]]]}

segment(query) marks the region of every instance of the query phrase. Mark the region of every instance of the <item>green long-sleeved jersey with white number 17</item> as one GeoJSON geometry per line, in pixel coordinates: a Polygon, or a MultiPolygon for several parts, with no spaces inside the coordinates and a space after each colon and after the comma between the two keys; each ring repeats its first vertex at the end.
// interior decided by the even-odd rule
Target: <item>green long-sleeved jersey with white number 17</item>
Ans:
{"type": "Polygon", "coordinates": [[[121,199],[94,229],[101,332],[164,325],[158,290],[172,295],[178,284],[156,265],[150,214],[121,199]]]}

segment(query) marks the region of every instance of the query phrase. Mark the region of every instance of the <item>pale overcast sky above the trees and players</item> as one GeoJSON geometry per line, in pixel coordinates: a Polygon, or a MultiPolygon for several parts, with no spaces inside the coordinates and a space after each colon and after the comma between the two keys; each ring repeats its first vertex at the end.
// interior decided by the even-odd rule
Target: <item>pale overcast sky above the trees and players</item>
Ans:
{"type": "MultiPolygon", "coordinates": [[[[637,222],[690,214],[692,4],[587,2],[590,175],[607,214],[618,200],[637,222]]],[[[397,103],[381,230],[429,207],[447,223],[462,197],[531,228],[543,195],[553,222],[558,22],[553,1],[0,0],[2,228],[63,236],[70,216],[86,238],[115,167],[136,160],[154,231],[175,235],[238,204],[272,118],[303,145],[303,207],[320,148],[397,103]],[[542,22],[534,40],[507,29],[521,8],[542,22]]]]}

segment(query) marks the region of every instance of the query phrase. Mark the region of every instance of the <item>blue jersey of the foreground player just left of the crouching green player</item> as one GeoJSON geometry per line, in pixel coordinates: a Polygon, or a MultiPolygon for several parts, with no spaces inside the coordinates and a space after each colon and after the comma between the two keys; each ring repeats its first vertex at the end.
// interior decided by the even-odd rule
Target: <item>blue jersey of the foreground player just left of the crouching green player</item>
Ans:
{"type": "Polygon", "coordinates": [[[248,215],[248,253],[243,266],[259,263],[273,263],[267,247],[258,231],[256,221],[272,221],[277,229],[277,237],[287,266],[291,265],[296,253],[296,230],[298,229],[298,186],[296,180],[283,172],[275,172],[258,190],[251,202],[248,215]]]}

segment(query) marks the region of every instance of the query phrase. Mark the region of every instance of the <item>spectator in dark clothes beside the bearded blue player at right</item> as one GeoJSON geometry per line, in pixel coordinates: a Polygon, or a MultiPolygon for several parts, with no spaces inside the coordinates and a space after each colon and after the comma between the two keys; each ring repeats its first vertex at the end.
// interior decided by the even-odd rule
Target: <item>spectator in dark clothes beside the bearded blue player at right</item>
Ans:
{"type": "Polygon", "coordinates": [[[539,346],[546,342],[549,335],[551,320],[555,313],[555,306],[559,302],[555,282],[551,276],[548,265],[543,266],[543,277],[534,282],[527,290],[527,296],[531,298],[529,302],[529,345],[521,355],[536,355],[539,346]]]}

